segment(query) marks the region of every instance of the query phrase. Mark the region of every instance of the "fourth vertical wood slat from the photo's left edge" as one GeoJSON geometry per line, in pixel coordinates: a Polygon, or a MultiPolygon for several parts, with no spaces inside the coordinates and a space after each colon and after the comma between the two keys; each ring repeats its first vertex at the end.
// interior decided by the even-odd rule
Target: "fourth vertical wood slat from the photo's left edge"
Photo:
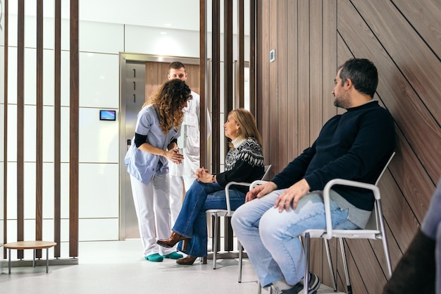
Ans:
{"type": "Polygon", "coordinates": [[[61,0],[55,1],[54,26],[54,257],[61,257],[61,0]]]}

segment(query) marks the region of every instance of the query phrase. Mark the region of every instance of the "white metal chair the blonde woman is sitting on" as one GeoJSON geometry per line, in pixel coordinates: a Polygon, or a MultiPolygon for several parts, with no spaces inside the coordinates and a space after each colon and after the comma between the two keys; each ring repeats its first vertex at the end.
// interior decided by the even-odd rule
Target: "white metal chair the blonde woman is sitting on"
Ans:
{"type": "MultiPolygon", "coordinates": [[[[265,166],[265,173],[263,173],[262,179],[266,178],[266,176],[268,175],[269,171],[271,169],[271,164],[266,165],[265,166]]],[[[218,223],[219,223],[219,218],[221,216],[224,217],[231,217],[232,214],[234,214],[234,210],[231,210],[231,205],[230,205],[230,186],[231,185],[242,185],[242,186],[249,186],[251,185],[251,183],[243,183],[243,182],[230,182],[225,186],[225,201],[227,202],[227,209],[208,209],[206,211],[206,214],[209,216],[214,216],[214,234],[213,234],[213,269],[216,269],[216,253],[218,251],[218,223]]],[[[241,245],[239,243],[239,255],[241,255],[242,250],[241,249],[241,245]]],[[[242,264],[240,263],[240,266],[242,266],[242,264]]]]}

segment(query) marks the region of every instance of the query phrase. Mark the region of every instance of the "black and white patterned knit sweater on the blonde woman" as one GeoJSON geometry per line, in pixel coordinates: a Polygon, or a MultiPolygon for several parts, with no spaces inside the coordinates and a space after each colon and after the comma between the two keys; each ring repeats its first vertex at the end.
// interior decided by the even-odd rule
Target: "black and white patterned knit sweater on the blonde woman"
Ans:
{"type": "MultiPolygon", "coordinates": [[[[249,137],[236,139],[232,143],[235,148],[230,149],[225,157],[225,171],[216,174],[218,184],[225,187],[232,181],[251,183],[254,180],[260,180],[265,168],[259,142],[254,137],[249,137]]],[[[244,186],[233,188],[244,193],[248,191],[248,188],[244,186]]]]}

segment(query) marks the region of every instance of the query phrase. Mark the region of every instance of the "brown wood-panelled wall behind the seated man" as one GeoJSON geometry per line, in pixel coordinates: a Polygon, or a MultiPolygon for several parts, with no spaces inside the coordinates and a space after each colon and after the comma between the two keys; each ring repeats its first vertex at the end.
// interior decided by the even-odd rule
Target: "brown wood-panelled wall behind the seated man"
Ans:
{"type": "MultiPolygon", "coordinates": [[[[261,85],[257,112],[278,105],[277,117],[276,111],[270,110],[268,118],[261,116],[259,120],[261,130],[271,130],[270,134],[262,133],[264,145],[270,149],[266,161],[273,164],[271,175],[309,146],[325,121],[345,112],[333,106],[337,66],[352,57],[373,61],[380,78],[374,98],[395,118],[397,133],[397,155],[379,184],[395,268],[414,238],[441,176],[441,3],[279,1],[278,13],[272,10],[273,5],[273,0],[258,4],[257,50],[261,54],[256,61],[256,82],[261,85]],[[286,20],[283,10],[287,11],[286,20]],[[273,30],[275,24],[277,31],[273,30]],[[274,46],[277,61],[269,64],[268,74],[267,52],[274,46]],[[268,100],[269,104],[264,104],[268,100]],[[273,125],[279,125],[278,137],[273,125]],[[287,133],[282,129],[285,125],[289,125],[287,133]],[[286,138],[280,138],[283,134],[286,138]],[[286,153],[282,144],[297,146],[297,150],[288,148],[286,153]],[[287,160],[283,160],[285,153],[287,160]]],[[[381,293],[387,282],[381,244],[351,240],[346,246],[354,293],[381,293]]],[[[314,247],[312,255],[324,259],[323,246],[314,247]]],[[[338,287],[344,290],[340,250],[335,242],[330,247],[338,287]]],[[[313,260],[311,269],[330,285],[326,262],[313,260]]]]}

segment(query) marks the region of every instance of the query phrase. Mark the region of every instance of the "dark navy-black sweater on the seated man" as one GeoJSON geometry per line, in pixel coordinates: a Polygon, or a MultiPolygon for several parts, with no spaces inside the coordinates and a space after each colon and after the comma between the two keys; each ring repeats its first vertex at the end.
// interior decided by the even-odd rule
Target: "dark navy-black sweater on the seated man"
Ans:
{"type": "MultiPolygon", "coordinates": [[[[395,148],[395,125],[377,101],[347,109],[323,125],[316,142],[271,180],[278,189],[304,178],[313,190],[323,190],[333,178],[375,183],[395,148]]],[[[373,209],[373,193],[334,186],[355,207],[373,209]]]]}

